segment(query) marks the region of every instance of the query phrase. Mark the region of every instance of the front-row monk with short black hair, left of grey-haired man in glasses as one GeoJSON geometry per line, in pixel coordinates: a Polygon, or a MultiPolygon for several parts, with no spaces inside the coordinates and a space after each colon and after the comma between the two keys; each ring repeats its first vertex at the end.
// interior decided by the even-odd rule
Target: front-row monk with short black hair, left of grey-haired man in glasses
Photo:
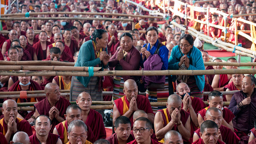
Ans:
{"type": "Polygon", "coordinates": [[[35,133],[29,137],[31,144],[62,144],[59,136],[50,132],[52,121],[48,116],[39,115],[34,123],[35,133]]]}

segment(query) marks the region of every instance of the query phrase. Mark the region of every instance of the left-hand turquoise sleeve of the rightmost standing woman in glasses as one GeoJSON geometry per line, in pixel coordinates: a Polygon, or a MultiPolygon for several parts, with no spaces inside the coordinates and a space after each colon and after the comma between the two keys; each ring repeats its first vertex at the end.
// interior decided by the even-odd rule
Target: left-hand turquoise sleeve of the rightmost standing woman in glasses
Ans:
{"type": "Polygon", "coordinates": [[[177,58],[178,58],[177,56],[180,55],[180,52],[178,55],[177,55],[177,52],[178,52],[178,46],[173,47],[171,56],[168,61],[168,70],[178,70],[179,69],[179,61],[177,60],[177,58]]]}

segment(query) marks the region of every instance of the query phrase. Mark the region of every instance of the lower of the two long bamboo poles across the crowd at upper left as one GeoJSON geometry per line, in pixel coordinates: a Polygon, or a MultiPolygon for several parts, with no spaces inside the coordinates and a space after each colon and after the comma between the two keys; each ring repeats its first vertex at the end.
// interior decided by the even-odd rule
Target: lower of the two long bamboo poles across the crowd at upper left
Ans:
{"type": "Polygon", "coordinates": [[[84,18],[84,17],[1,17],[0,20],[111,20],[111,21],[133,21],[132,19],[122,18],[84,18]]]}

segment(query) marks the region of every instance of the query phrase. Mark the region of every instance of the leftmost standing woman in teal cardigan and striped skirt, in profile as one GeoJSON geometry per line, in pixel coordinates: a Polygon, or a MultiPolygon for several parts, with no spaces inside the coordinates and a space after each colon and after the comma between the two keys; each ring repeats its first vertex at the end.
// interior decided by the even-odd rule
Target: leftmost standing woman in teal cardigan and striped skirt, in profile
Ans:
{"type": "MultiPolygon", "coordinates": [[[[91,35],[91,40],[81,46],[75,67],[101,67],[100,71],[107,68],[110,58],[107,50],[108,37],[105,30],[95,30],[91,35]]],[[[103,101],[102,77],[73,76],[70,100],[75,101],[77,96],[84,91],[91,95],[92,101],[103,101]]]]}

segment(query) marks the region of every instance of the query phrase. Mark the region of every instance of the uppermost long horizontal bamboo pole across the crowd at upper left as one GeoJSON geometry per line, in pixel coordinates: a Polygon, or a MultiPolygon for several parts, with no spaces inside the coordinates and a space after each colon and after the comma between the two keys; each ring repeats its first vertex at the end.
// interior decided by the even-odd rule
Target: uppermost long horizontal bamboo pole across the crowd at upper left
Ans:
{"type": "MultiPolygon", "coordinates": [[[[66,15],[105,15],[105,16],[122,16],[122,17],[142,17],[142,18],[158,18],[162,19],[163,17],[160,16],[144,16],[144,15],[130,15],[130,14],[119,14],[119,13],[93,13],[93,12],[36,12],[36,13],[29,13],[30,16],[37,16],[37,15],[59,15],[59,14],[66,14],[66,15]]],[[[17,17],[23,16],[25,17],[25,13],[17,13],[17,14],[4,14],[1,17],[17,17]]],[[[51,18],[49,18],[51,19],[51,18]]]]}

